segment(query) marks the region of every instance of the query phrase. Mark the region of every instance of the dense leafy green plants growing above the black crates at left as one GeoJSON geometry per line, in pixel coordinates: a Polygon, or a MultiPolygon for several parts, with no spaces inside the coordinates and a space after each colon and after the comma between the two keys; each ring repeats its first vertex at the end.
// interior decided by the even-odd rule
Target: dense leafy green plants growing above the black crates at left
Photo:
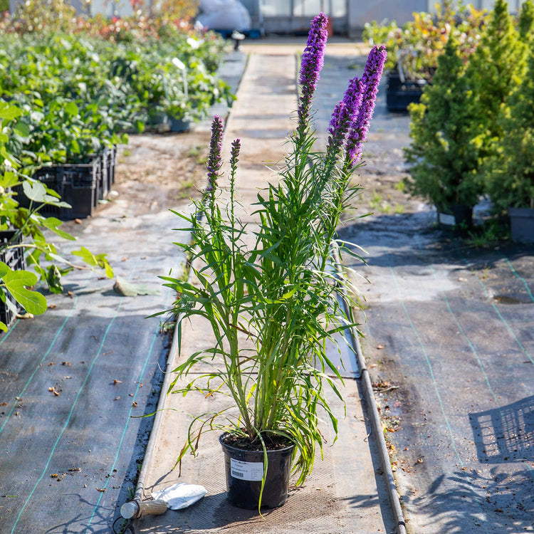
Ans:
{"type": "Polygon", "coordinates": [[[24,167],[89,163],[167,117],[199,119],[231,98],[216,78],[224,42],[169,28],[165,38],[113,43],[79,35],[0,35],[0,90],[22,111],[7,148],[24,167]]]}

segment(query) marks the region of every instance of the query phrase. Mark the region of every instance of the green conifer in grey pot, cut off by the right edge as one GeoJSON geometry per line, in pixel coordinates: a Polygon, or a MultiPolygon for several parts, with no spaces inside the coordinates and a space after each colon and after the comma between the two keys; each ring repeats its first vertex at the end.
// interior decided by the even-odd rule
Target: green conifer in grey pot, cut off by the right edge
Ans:
{"type": "Polygon", "coordinates": [[[534,243],[534,46],[523,82],[501,115],[504,135],[486,167],[498,214],[508,211],[512,239],[534,243]]]}

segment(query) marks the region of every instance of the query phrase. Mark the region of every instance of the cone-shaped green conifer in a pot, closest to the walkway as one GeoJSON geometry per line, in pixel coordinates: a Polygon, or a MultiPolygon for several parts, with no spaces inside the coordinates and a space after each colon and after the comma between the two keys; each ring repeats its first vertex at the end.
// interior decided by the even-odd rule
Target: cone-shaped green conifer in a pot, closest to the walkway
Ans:
{"type": "Polygon", "coordinates": [[[441,224],[471,225],[483,192],[478,178],[478,129],[466,67],[453,37],[439,57],[434,81],[421,103],[409,107],[412,163],[408,185],[436,205],[441,224]]]}

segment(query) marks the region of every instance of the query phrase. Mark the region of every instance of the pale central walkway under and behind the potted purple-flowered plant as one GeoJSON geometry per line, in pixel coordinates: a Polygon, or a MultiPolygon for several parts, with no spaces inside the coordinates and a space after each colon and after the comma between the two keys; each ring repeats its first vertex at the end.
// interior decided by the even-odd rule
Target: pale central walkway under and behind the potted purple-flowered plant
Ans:
{"type": "MultiPolygon", "coordinates": [[[[224,153],[235,137],[241,138],[237,187],[244,205],[240,216],[251,220],[251,204],[258,188],[264,187],[273,173],[266,164],[283,157],[283,141],[293,122],[288,117],[295,109],[296,64],[293,50],[261,48],[252,53],[226,127],[224,153]]],[[[355,53],[347,48],[346,53],[355,53]]],[[[347,79],[340,80],[337,93],[342,96],[347,79]]],[[[184,328],[183,357],[209,346],[206,326],[192,320],[184,328]]],[[[174,367],[181,361],[176,353],[174,367]]],[[[365,406],[357,381],[348,377],[343,389],[347,402],[347,417],[343,407],[332,399],[340,417],[337,443],[325,447],[325,458],[317,459],[315,469],[302,488],[290,489],[288,503],[265,518],[256,511],[234,508],[226,502],[224,464],[216,432],[205,434],[197,458],[186,457],[182,477],[173,471],[177,454],[184,443],[190,419],[187,413],[202,413],[204,409],[220,409],[224,404],[203,396],[170,395],[165,401],[162,426],[157,434],[155,454],[149,465],[146,497],[151,490],[164,488],[179,481],[199,483],[208,495],[191,508],[160,516],[147,516],[135,521],[135,531],[143,533],[220,532],[231,533],[392,533],[394,523],[384,491],[381,471],[375,451],[375,436],[366,424],[365,406]]],[[[328,429],[326,436],[329,438],[328,429]]],[[[329,439],[330,441],[330,439],[329,439]]]]}

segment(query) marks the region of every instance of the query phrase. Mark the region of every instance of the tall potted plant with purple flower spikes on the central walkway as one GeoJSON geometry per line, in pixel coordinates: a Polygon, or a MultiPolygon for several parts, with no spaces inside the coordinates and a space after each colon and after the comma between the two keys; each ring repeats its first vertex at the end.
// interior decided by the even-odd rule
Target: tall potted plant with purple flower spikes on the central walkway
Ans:
{"type": "Polygon", "coordinates": [[[352,286],[335,275],[332,251],[343,248],[336,227],[347,199],[360,189],[350,177],[359,165],[386,53],[373,48],[362,79],[350,80],[333,112],[326,152],[318,154],[312,150],[310,107],[326,38],[327,17],[320,14],[302,56],[298,122],[279,182],[258,193],[258,228],[234,214],[239,140],[231,145],[229,189],[219,189],[223,124],[216,117],[204,204],[195,204],[192,215],[177,213],[192,229],[192,243],[179,246],[191,258],[197,283],[162,277],[179,295],[171,310],[178,340],[183,321],[195,315],[216,339],[208,350],[184,356],[169,393],[230,399],[220,412],[195,415],[178,460],[197,451],[206,429],[221,431],[229,498],[244,508],[281,506],[290,469],[298,484],[310,473],[315,449],[323,446],[320,412],[337,429],[325,388],[342,397],[327,374],[340,379],[325,342],[357,326],[338,303],[341,286],[352,286]],[[211,370],[196,375],[202,362],[211,370]]]}

